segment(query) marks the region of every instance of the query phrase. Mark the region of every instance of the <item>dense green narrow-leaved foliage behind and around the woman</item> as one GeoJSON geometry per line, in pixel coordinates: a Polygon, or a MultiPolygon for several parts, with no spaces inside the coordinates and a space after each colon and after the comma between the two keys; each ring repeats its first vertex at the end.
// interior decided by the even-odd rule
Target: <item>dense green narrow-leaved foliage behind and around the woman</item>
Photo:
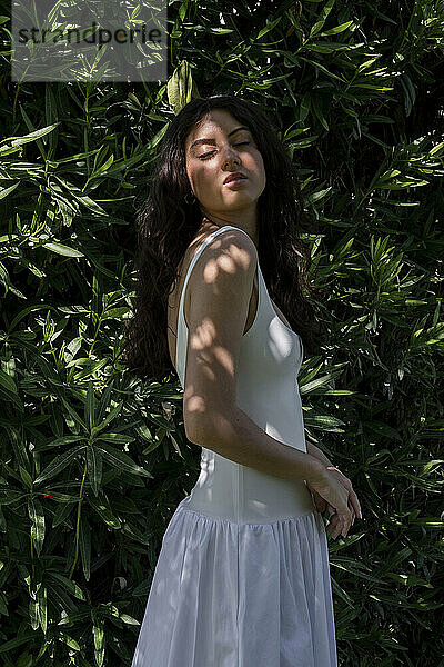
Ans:
{"type": "Polygon", "coordinates": [[[319,222],[305,240],[330,339],[299,376],[306,434],[364,517],[330,541],[340,665],[443,656],[444,6],[275,4],[172,2],[160,84],[13,84],[3,47],[6,667],[130,665],[200,454],[174,378],[142,386],[119,362],[134,205],[172,113],[214,91],[275,122],[319,222]]]}

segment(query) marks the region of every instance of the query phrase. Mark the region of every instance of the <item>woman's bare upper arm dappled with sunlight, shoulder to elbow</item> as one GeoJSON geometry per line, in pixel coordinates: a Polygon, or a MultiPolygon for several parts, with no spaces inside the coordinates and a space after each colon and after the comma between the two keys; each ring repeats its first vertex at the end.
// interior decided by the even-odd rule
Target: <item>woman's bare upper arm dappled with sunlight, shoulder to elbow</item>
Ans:
{"type": "Polygon", "coordinates": [[[183,414],[194,441],[211,429],[215,411],[226,415],[235,404],[256,262],[252,239],[241,230],[225,229],[211,239],[191,272],[183,414]]]}

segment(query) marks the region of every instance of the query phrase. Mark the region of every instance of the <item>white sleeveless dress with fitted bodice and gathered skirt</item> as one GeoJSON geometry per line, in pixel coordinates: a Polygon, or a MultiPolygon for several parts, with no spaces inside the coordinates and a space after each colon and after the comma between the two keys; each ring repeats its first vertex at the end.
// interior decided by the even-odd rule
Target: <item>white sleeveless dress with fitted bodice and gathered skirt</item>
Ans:
{"type": "MultiPolygon", "coordinates": [[[[188,327],[178,315],[184,386],[188,327]]],[[[241,230],[243,231],[243,230],[241,230]]],[[[244,232],[246,233],[246,232],[244,232]]],[[[259,301],[243,335],[236,405],[306,451],[296,376],[302,342],[278,317],[258,262],[259,301]]],[[[131,667],[337,667],[325,526],[303,480],[202,447],[201,474],[164,534],[131,667]]]]}

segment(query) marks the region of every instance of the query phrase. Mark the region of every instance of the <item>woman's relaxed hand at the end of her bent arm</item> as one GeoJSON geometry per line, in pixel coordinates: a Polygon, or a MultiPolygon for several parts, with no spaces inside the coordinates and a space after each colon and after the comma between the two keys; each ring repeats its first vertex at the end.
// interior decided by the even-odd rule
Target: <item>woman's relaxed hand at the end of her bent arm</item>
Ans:
{"type": "MultiPolygon", "coordinates": [[[[353,526],[354,524],[355,517],[357,516],[360,519],[362,519],[361,506],[357,500],[357,496],[353,490],[351,480],[335,466],[327,466],[325,469],[329,470],[329,475],[333,476],[333,478],[342,485],[343,489],[347,491],[346,506],[342,504],[342,509],[341,498],[336,496],[335,504],[340,506],[340,511],[331,502],[334,497],[334,492],[332,495],[332,490],[327,488],[329,485],[325,486],[326,480],[305,480],[305,484],[313,495],[316,510],[322,514],[325,511],[325,509],[327,509],[329,514],[333,515],[333,518],[331,518],[326,528],[329,535],[331,535],[333,539],[335,539],[340,534],[342,534],[343,537],[346,537],[350,526],[353,526]]],[[[330,479],[332,479],[332,477],[330,477],[330,479]]],[[[343,500],[344,497],[342,497],[342,501],[343,500]]]]}

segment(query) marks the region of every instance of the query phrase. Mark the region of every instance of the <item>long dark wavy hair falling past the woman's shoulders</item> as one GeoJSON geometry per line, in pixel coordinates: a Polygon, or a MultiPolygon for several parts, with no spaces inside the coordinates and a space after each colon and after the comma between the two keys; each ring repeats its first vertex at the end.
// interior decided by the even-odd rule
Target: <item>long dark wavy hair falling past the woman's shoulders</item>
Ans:
{"type": "Polygon", "coordinates": [[[168,300],[178,267],[202,225],[185,165],[185,139],[212,109],[225,109],[248,126],[262,155],[266,185],[258,200],[258,256],[272,300],[304,345],[317,352],[324,331],[310,302],[310,248],[299,238],[316,222],[304,211],[290,156],[270,119],[238,96],[215,94],[185,104],[168,126],[154,165],[149,195],[137,209],[134,316],[124,322],[122,362],[141,379],[163,381],[176,371],[168,349],[168,300]]]}

